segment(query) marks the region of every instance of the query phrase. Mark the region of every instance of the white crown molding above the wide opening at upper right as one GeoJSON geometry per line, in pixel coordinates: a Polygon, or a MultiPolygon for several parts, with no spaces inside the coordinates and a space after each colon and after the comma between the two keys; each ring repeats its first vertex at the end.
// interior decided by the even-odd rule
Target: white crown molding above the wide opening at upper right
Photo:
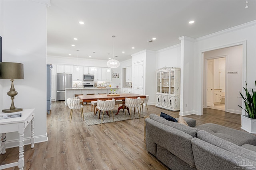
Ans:
{"type": "Polygon", "coordinates": [[[212,37],[216,37],[216,36],[220,36],[220,35],[225,34],[225,33],[230,33],[230,32],[237,31],[237,30],[240,30],[240,29],[244,29],[244,28],[247,28],[247,27],[251,27],[251,26],[254,26],[254,25],[256,25],[256,20],[250,21],[248,23],[244,23],[242,25],[238,25],[238,26],[235,26],[235,27],[231,27],[231,28],[228,28],[228,29],[224,29],[222,31],[218,31],[216,33],[212,33],[212,34],[209,34],[209,35],[206,35],[206,36],[203,36],[203,37],[196,38],[195,42],[202,41],[204,39],[208,39],[208,38],[212,38],[212,37]]]}

